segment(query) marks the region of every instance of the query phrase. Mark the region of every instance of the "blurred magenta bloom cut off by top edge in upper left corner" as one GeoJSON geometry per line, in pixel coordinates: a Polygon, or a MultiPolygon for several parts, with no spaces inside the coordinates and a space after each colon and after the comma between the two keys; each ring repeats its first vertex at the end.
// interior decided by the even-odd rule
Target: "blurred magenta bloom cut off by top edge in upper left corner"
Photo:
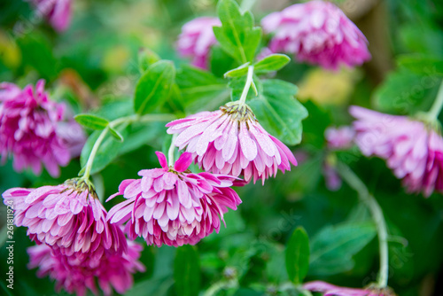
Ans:
{"type": "Polygon", "coordinates": [[[65,31],[71,22],[72,0],[28,0],[35,6],[38,16],[42,16],[51,23],[58,32],[65,31]]]}

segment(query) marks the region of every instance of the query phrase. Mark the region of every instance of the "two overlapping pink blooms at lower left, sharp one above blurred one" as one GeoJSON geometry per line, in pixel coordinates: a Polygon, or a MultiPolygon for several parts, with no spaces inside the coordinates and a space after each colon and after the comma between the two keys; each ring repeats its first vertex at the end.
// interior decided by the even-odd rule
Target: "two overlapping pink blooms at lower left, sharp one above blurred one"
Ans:
{"type": "Polygon", "coordinates": [[[58,288],[85,295],[95,292],[95,278],[111,295],[132,285],[142,247],[128,243],[122,230],[106,221],[106,211],[91,185],[79,179],[38,189],[12,188],[3,193],[13,204],[15,225],[27,227],[37,244],[28,249],[30,268],[49,275],[58,288]]]}

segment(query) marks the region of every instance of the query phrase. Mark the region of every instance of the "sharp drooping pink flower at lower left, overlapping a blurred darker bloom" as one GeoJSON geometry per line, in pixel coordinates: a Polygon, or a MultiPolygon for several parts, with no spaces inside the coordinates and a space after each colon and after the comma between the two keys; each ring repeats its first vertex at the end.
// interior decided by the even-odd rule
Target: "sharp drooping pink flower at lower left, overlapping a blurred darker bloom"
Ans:
{"type": "Polygon", "coordinates": [[[106,211],[91,185],[72,179],[57,186],[4,191],[4,203],[14,206],[16,226],[39,243],[58,246],[66,255],[99,258],[105,250],[121,253],[126,238],[106,222],[106,211]]]}

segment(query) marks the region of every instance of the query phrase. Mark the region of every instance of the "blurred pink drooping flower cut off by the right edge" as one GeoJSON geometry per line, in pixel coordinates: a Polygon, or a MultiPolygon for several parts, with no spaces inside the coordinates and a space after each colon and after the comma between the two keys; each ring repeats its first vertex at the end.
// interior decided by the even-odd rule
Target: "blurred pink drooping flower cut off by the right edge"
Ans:
{"type": "Polygon", "coordinates": [[[409,192],[443,192],[443,138],[435,130],[406,116],[358,106],[349,113],[357,119],[356,144],[364,155],[385,159],[409,192]]]}

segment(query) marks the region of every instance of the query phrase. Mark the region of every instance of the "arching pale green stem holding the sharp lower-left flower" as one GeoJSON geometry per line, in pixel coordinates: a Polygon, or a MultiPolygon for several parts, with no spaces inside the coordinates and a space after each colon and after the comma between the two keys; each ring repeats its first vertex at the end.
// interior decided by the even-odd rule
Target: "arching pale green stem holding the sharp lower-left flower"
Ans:
{"type": "Polygon", "coordinates": [[[109,122],[108,126],[102,130],[100,136],[98,136],[96,143],[92,146],[92,150],[90,151],[88,161],[86,162],[85,171],[82,175],[82,180],[88,181],[90,176],[90,171],[92,169],[92,165],[94,164],[94,159],[96,158],[96,154],[100,144],[102,144],[103,140],[109,129],[114,129],[118,125],[122,123],[133,123],[133,122],[151,122],[151,121],[171,121],[174,120],[175,116],[173,114],[146,114],[140,116],[138,114],[129,115],[125,117],[121,117],[116,119],[115,121],[109,122]]]}

